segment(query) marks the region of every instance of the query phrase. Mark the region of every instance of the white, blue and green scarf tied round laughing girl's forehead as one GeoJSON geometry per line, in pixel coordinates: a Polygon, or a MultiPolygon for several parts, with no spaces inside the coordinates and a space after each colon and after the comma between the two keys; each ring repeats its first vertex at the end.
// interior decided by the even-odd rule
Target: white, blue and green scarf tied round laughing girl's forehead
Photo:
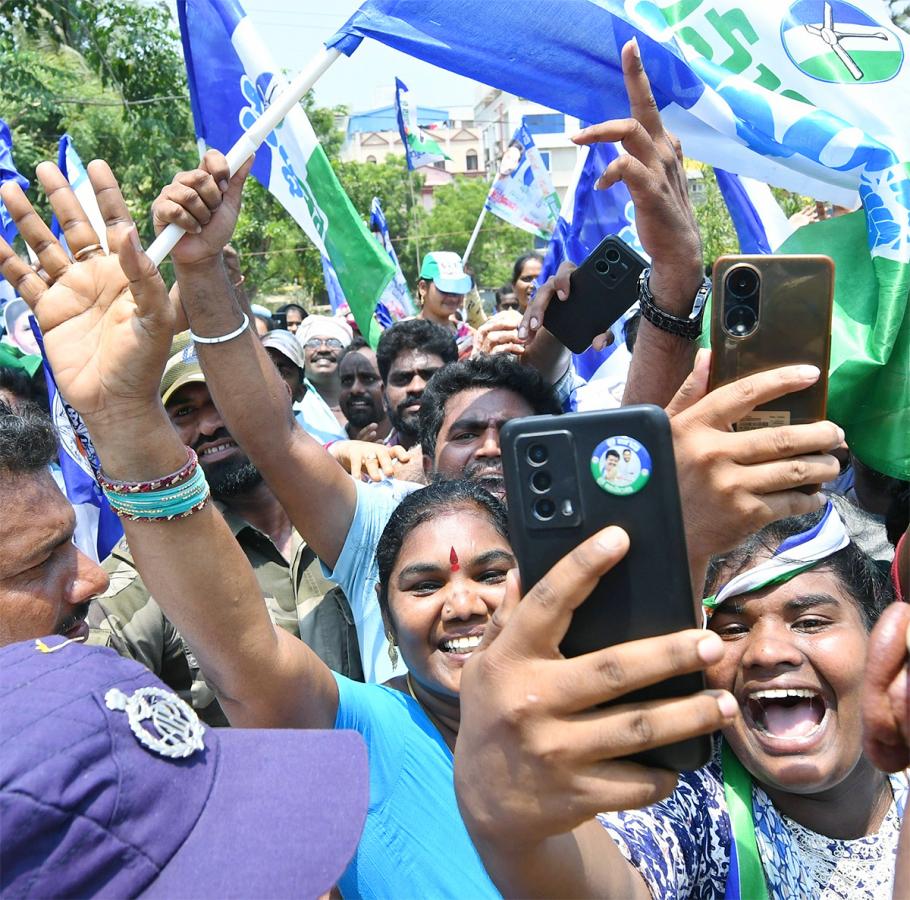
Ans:
{"type": "Polygon", "coordinates": [[[771,554],[770,559],[740,572],[716,594],[706,597],[702,601],[705,614],[710,616],[730,597],[752,594],[775,584],[783,584],[837,553],[838,550],[843,550],[849,543],[850,536],[843,520],[829,500],[825,514],[816,525],[808,531],[788,537],[771,554]]]}

